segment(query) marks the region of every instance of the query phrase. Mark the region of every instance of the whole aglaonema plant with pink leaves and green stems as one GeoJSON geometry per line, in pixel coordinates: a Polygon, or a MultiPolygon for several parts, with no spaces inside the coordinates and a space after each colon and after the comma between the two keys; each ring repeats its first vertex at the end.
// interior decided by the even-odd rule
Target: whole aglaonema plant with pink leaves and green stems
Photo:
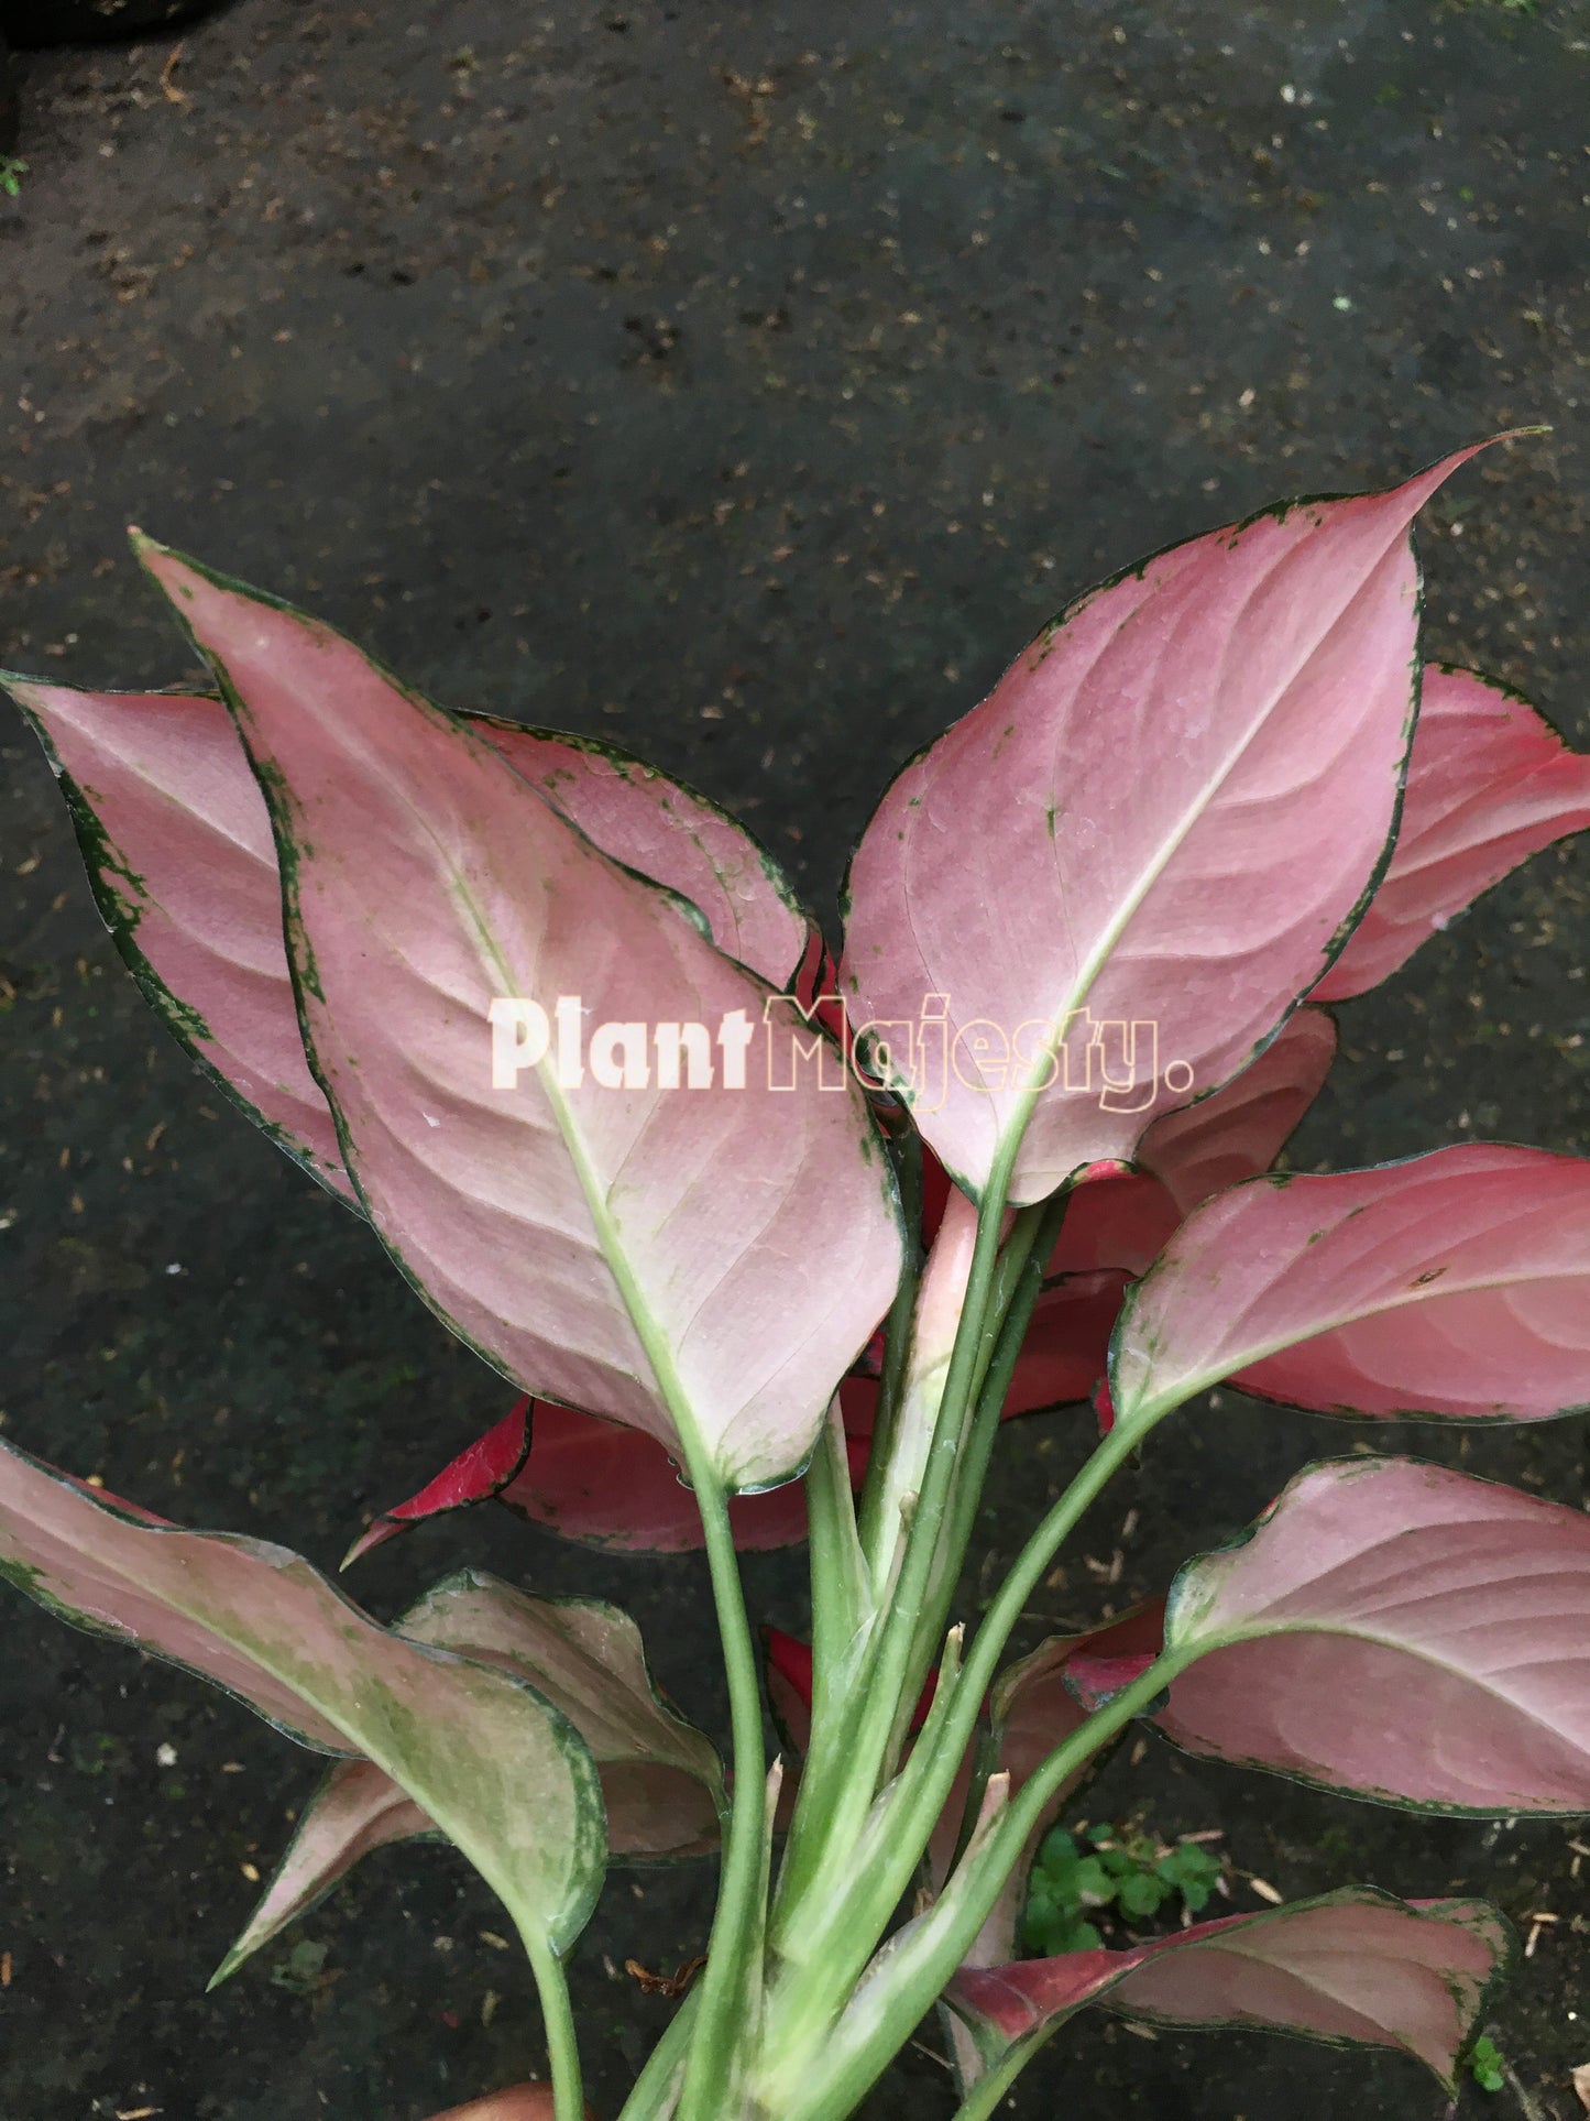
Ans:
{"type": "Polygon", "coordinates": [[[704,1548],[723,1640],[727,1771],[613,1606],[462,1570],[384,1625],[0,1442],[19,1589],[326,1756],[220,1975],[367,1850],[443,1837],[524,1939],[551,2062],[469,2110],[577,2121],[564,1958],[604,1871],[700,1856],[704,1968],[621,2121],[842,2121],[935,2006],[958,2121],[1088,2004],[1456,2085],[1512,1951],[1480,1900],[1194,1920],[1206,1860],[1105,1835],[1096,1905],[1187,1898],[1105,1947],[1075,1909],[1024,1922],[1028,1873],[1045,1845],[1032,1907],[1071,1890],[1052,1828],[1134,1718],[1418,1811],[1590,1811],[1582,1510],[1331,1459],[1166,1597],[1007,1659],[1083,1510],[1211,1385],[1365,1421],[1590,1404],[1590,1164],[1274,1169],[1325,1003],[1590,823],[1590,761],[1420,658],[1412,524],[1469,454],[1071,604],[884,795],[837,969],[704,797],[447,713],[148,539],[214,691],[8,681],[170,1031],[519,1391],[350,1561],[496,1497],[704,1548]],[[1088,1400],[1096,1449],[967,1635],[1001,1421],[1088,1400]],[[736,1548],[797,1540],[770,1765],[736,1548]],[[1024,1958],[1043,1934],[1081,1949],[1024,1958]]]}

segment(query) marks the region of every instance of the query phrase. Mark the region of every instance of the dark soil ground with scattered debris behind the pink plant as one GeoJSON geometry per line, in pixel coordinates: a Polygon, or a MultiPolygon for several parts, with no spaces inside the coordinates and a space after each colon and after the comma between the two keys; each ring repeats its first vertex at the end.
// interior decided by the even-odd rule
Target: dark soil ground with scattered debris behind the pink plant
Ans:
{"type": "MultiPolygon", "coordinates": [[[[125,556],[138,520],[443,700],[655,755],[831,906],[893,764],[1064,596],[1278,494],[1548,420],[1431,511],[1429,634],[1590,742],[1588,110],[1582,0],[237,0],[180,49],[32,55],[32,170],[0,199],[4,660],[182,674],[125,556]]],[[[15,719],[4,778],[0,1421],[335,1565],[502,1387],[155,1027],[15,719]]],[[[1590,1150],[1588,884],[1582,848],[1541,857],[1350,1005],[1297,1158],[1590,1150]]],[[[1359,1438],[1230,1398],[1181,1421],[1043,1618],[1155,1587],[1359,1438]]],[[[1575,1423],[1378,1440],[1590,1493],[1575,1423]]],[[[1075,1415],[1009,1434],[1001,1553],[1083,1442],[1075,1415]]],[[[623,1601],[721,1722],[695,1563],[477,1512],[358,1591],[392,1612],[464,1557],[623,1601]]],[[[801,1625],[797,1557],[748,1576],[801,1625]]],[[[0,1697],[0,2121],[411,2121],[545,2066],[502,1917],[441,1850],[373,1858],[303,1924],[318,1981],[280,1949],[206,1998],[314,1763],[19,1599],[0,1697]]],[[[1094,1816],[1221,1826],[1285,1894],[1554,1913],[1497,2011],[1518,2089],[1463,2113],[1577,2113],[1575,1822],[1412,1820],[1158,1739],[1132,1758],[1094,1816]]],[[[617,1875],[577,1951],[608,2117],[666,2015],[623,1962],[672,1968],[708,1909],[704,1871],[617,1875]]],[[[950,2113],[922,2040],[880,2121],[950,2113]]],[[[1013,2104],[1437,2121],[1446,2098],[1395,2059],[1096,2017],[1013,2104]]]]}

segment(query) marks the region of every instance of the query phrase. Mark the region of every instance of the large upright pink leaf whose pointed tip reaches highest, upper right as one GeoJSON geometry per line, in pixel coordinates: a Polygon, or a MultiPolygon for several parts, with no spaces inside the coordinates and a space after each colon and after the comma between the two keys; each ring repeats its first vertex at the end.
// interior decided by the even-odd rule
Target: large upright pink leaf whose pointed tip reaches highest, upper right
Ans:
{"type": "Polygon", "coordinates": [[[1395,823],[1408,530],[1469,454],[1143,562],[884,795],[850,872],[846,1007],[861,1031],[943,1003],[950,1065],[922,1022],[901,1094],[967,1190],[1003,1156],[1018,1203],[1130,1158],[1319,984],[1395,823]]]}

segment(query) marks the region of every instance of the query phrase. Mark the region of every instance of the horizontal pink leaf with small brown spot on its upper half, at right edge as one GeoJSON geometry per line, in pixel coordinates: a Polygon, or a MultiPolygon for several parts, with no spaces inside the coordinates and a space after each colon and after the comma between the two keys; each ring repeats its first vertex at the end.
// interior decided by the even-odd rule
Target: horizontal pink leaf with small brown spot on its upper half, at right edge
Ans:
{"type": "Polygon", "coordinates": [[[1473,1143],[1217,1194],[1128,1296],[1115,1410],[1225,1377],[1344,1415],[1590,1406],[1590,1162],[1473,1143]]]}

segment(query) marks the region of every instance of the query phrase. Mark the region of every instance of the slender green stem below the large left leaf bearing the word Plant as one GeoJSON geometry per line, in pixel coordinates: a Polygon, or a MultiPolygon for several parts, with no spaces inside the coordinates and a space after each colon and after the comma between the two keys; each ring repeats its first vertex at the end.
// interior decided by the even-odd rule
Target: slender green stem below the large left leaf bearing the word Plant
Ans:
{"type": "Polygon", "coordinates": [[[729,1680],[734,1811],[678,2115],[681,2121],[721,2121],[731,2102],[738,2034],[750,2017],[748,1998],[761,1979],[767,1754],[761,1741],[757,1652],[750,1642],[740,1565],[734,1555],[729,1508],[717,1480],[697,1480],[695,1497],[706,1531],[706,1561],[712,1574],[723,1667],[729,1680]]]}

